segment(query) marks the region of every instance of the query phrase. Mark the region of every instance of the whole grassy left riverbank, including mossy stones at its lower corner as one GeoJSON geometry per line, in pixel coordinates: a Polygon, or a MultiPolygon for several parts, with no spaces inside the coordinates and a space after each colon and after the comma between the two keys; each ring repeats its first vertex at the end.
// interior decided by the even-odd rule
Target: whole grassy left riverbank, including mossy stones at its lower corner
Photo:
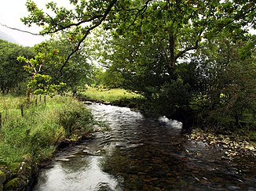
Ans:
{"type": "Polygon", "coordinates": [[[71,97],[0,96],[0,190],[25,190],[58,147],[90,135],[93,117],[71,97]]]}

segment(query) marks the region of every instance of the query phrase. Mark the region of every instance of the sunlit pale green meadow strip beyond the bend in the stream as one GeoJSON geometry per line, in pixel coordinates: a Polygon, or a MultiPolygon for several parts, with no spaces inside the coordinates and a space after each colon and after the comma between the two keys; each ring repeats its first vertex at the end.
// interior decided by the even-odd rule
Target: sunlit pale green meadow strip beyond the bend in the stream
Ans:
{"type": "Polygon", "coordinates": [[[90,87],[86,89],[86,92],[82,92],[82,96],[86,96],[88,99],[104,100],[111,103],[117,100],[141,98],[141,95],[127,92],[122,88],[104,89],[90,87]]]}

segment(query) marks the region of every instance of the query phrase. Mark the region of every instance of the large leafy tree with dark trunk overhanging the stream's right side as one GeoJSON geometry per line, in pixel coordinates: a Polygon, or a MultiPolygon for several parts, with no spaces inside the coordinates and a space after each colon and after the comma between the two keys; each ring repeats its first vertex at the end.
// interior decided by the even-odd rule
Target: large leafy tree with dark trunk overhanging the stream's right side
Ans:
{"type": "MultiPolygon", "coordinates": [[[[117,3],[119,13],[112,13],[111,22],[105,23],[105,28],[115,28],[106,48],[112,46],[112,53],[105,54],[105,59],[112,60],[111,72],[123,74],[124,88],[140,92],[169,112],[188,107],[192,100],[191,85],[196,83],[188,83],[185,75],[179,74],[191,53],[203,49],[205,41],[214,41],[220,33],[230,40],[243,38],[245,26],[254,24],[251,1],[126,2],[117,3]]],[[[213,46],[218,48],[216,43],[213,46]]],[[[218,97],[212,93],[212,100],[218,97]]]]}

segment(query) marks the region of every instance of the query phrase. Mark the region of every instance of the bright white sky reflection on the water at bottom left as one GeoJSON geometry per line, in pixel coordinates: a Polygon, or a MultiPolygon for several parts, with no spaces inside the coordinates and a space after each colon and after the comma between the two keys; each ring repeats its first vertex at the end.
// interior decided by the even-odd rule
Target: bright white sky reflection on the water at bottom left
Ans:
{"type": "Polygon", "coordinates": [[[117,190],[118,182],[100,169],[101,157],[75,156],[57,160],[43,170],[35,190],[117,190]],[[73,160],[75,159],[75,160],[73,160]]]}

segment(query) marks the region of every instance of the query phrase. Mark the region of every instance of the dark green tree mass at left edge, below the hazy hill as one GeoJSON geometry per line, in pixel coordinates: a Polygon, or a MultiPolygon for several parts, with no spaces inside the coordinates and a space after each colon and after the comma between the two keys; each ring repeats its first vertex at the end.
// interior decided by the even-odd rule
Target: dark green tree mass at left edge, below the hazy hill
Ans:
{"type": "Polygon", "coordinates": [[[35,52],[31,48],[0,40],[0,90],[2,93],[8,93],[17,88],[20,83],[27,81],[28,74],[24,71],[22,64],[16,60],[20,55],[30,59],[35,56],[35,52]]]}

